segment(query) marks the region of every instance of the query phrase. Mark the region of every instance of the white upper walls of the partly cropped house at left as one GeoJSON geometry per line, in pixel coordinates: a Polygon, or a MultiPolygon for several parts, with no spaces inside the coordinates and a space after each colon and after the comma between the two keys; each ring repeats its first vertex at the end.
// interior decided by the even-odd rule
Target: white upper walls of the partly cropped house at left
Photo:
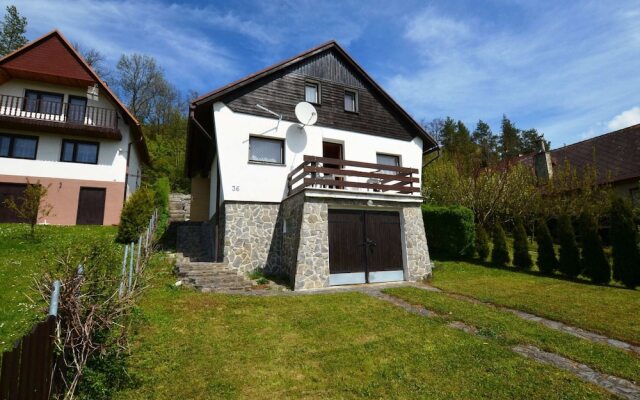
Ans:
{"type": "MultiPolygon", "coordinates": [[[[64,102],[68,101],[69,95],[86,96],[86,89],[69,87],[63,85],[53,85],[42,82],[32,82],[25,80],[10,80],[0,85],[0,94],[23,97],[26,89],[41,90],[64,94],[64,102]]],[[[87,106],[117,109],[107,99],[105,93],[101,92],[99,100],[88,100],[87,106]]],[[[0,174],[16,176],[32,176],[43,178],[60,179],[82,179],[92,181],[124,182],[127,173],[127,150],[130,142],[129,126],[124,122],[122,115],[118,116],[118,127],[122,134],[122,140],[107,140],[95,138],[90,135],[86,137],[59,135],[42,133],[38,131],[17,131],[0,127],[0,133],[20,134],[38,136],[38,149],[35,160],[23,160],[16,158],[0,157],[0,174]],[[80,164],[61,162],[60,153],[62,140],[87,140],[100,143],[98,164],[80,164]]],[[[129,173],[131,175],[140,174],[140,162],[138,151],[135,145],[131,146],[129,159],[129,173]]],[[[133,193],[140,185],[140,178],[129,177],[127,193],[133,193]]]]}

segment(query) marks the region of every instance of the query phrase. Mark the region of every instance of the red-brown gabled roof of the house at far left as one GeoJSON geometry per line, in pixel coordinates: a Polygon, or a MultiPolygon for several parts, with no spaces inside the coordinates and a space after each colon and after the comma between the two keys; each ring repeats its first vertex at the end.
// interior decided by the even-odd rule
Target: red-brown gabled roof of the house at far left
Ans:
{"type": "Polygon", "coordinates": [[[122,111],[135,139],[141,161],[150,164],[149,151],[140,122],[58,30],[53,30],[0,58],[0,84],[13,78],[68,86],[98,84],[100,92],[106,93],[122,111]]]}

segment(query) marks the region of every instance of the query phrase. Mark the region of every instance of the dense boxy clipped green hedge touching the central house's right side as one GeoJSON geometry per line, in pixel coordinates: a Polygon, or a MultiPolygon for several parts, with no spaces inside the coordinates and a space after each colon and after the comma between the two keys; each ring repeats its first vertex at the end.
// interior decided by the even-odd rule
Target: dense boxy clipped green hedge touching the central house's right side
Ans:
{"type": "Polygon", "coordinates": [[[456,259],[474,254],[473,212],[461,206],[422,206],[429,252],[436,258],[456,259]]]}

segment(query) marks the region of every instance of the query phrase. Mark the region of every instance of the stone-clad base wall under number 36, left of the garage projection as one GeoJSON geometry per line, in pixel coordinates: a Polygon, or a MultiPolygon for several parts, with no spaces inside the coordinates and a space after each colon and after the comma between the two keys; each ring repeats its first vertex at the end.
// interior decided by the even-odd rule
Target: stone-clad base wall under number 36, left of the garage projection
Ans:
{"type": "Polygon", "coordinates": [[[221,213],[224,262],[238,272],[281,269],[279,204],[225,202],[221,213]],[[222,221],[224,221],[222,223],[222,221]]]}

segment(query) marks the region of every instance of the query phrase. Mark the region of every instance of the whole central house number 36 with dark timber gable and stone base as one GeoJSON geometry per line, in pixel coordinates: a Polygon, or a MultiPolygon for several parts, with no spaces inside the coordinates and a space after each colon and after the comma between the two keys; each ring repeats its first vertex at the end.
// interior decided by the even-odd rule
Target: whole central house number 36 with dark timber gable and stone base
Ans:
{"type": "Polygon", "coordinates": [[[435,146],[331,41],[192,103],[191,218],[211,221],[218,261],[295,289],[423,279],[419,171],[435,146]],[[294,114],[305,101],[313,126],[294,114]]]}

